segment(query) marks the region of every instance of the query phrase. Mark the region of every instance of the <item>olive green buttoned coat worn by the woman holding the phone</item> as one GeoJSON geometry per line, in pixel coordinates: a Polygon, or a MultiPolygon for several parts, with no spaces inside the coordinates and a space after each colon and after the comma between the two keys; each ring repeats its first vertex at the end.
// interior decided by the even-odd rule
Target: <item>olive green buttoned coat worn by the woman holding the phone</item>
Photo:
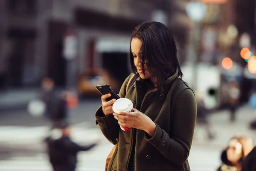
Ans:
{"type": "MultiPolygon", "coordinates": [[[[131,75],[122,84],[119,96],[130,99],[137,107],[137,98],[143,96],[145,83],[139,78],[126,92],[131,75]]],[[[143,97],[142,97],[143,99],[143,97]]],[[[190,171],[189,151],[196,122],[196,101],[192,89],[177,78],[177,73],[164,85],[163,94],[148,92],[140,111],[156,124],[156,132],[149,137],[144,130],[137,130],[135,171],[190,171]]],[[[96,111],[96,124],[116,150],[108,171],[127,171],[134,130],[122,131],[113,115],[105,116],[102,106],[96,111]]],[[[111,149],[109,149],[111,151],[111,149]]]]}

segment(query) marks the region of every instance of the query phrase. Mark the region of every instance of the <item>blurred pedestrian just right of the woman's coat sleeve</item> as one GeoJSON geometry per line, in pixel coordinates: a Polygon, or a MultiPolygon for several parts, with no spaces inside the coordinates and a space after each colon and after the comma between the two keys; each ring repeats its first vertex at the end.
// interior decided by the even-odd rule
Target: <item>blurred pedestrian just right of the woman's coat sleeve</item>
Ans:
{"type": "Polygon", "coordinates": [[[197,118],[196,122],[197,125],[202,125],[207,133],[208,139],[214,138],[214,133],[211,129],[210,123],[209,123],[209,111],[204,105],[204,95],[201,92],[196,92],[196,101],[197,101],[197,118]]]}

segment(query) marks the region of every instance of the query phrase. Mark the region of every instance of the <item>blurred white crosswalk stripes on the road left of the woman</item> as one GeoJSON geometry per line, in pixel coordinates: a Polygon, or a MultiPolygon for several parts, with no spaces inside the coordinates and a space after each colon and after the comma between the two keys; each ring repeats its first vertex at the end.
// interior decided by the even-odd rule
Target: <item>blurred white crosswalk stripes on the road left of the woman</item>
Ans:
{"type": "MultiPolygon", "coordinates": [[[[0,171],[50,171],[51,165],[47,154],[44,153],[45,144],[42,142],[47,130],[47,127],[0,127],[0,145],[2,144],[9,148],[37,150],[38,153],[36,156],[16,156],[0,160],[0,171]]],[[[77,126],[73,128],[72,139],[81,145],[90,144],[98,138],[102,138],[102,142],[99,145],[90,151],[78,154],[77,171],[104,170],[105,159],[113,145],[104,138],[99,128],[88,129],[77,126]]]]}

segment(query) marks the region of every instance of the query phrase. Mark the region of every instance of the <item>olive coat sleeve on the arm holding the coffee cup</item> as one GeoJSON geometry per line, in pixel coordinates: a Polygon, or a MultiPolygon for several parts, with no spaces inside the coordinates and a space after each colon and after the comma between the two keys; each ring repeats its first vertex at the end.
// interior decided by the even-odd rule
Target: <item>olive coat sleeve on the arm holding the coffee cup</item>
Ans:
{"type": "Polygon", "coordinates": [[[182,165],[189,157],[195,129],[197,105],[191,89],[185,89],[177,97],[173,113],[173,124],[169,136],[165,130],[156,124],[156,132],[150,137],[145,133],[145,139],[158,151],[177,165],[182,165]]]}

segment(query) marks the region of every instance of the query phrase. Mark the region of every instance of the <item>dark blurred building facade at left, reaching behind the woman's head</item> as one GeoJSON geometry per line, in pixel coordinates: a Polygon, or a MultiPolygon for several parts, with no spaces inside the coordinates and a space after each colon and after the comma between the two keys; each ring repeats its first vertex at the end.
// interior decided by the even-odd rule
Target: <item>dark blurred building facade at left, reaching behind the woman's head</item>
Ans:
{"type": "MultiPolygon", "coordinates": [[[[177,13],[186,18],[186,12],[175,4],[170,0],[0,0],[0,73],[5,86],[38,86],[44,76],[65,86],[67,78],[76,82],[84,69],[115,61],[118,57],[111,57],[111,52],[127,61],[131,31],[146,20],[165,23],[183,45],[186,23],[171,19],[177,13]],[[64,39],[70,33],[77,52],[67,60],[64,39]]],[[[128,70],[128,63],[121,65],[128,70]]]]}

